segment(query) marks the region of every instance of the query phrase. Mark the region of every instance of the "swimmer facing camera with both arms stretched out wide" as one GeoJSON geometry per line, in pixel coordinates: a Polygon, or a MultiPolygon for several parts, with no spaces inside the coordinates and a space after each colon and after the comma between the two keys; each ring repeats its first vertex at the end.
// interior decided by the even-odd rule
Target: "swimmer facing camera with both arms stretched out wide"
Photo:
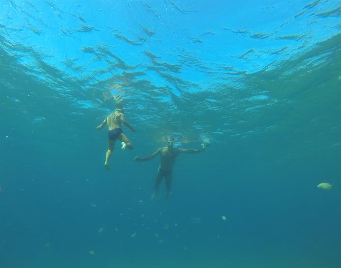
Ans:
{"type": "Polygon", "coordinates": [[[155,197],[161,180],[164,177],[166,183],[166,195],[165,199],[168,198],[169,191],[171,191],[171,182],[173,178],[173,166],[175,164],[175,160],[179,153],[199,153],[205,150],[206,147],[210,145],[209,142],[204,142],[202,144],[201,149],[183,149],[183,148],[174,148],[174,140],[171,138],[167,139],[167,146],[158,148],[153,154],[147,155],[145,157],[136,156],[134,160],[136,162],[146,161],[154,158],[156,155],[161,156],[160,166],[156,174],[155,185],[154,185],[154,193],[152,195],[152,199],[155,197]]]}

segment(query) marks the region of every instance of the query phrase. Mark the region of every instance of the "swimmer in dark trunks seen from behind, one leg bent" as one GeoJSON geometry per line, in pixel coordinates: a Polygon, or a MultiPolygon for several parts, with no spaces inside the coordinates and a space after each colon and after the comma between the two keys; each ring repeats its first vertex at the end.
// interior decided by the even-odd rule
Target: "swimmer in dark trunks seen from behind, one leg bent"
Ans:
{"type": "Polygon", "coordinates": [[[132,132],[136,130],[125,120],[123,109],[118,108],[115,112],[109,114],[102,124],[96,127],[97,130],[103,128],[105,124],[108,124],[108,150],[105,154],[105,163],[104,166],[106,170],[110,170],[109,167],[109,158],[112,153],[113,147],[115,146],[115,141],[118,139],[121,141],[122,150],[133,149],[133,145],[129,141],[128,137],[122,131],[122,124],[128,127],[132,132]]]}

